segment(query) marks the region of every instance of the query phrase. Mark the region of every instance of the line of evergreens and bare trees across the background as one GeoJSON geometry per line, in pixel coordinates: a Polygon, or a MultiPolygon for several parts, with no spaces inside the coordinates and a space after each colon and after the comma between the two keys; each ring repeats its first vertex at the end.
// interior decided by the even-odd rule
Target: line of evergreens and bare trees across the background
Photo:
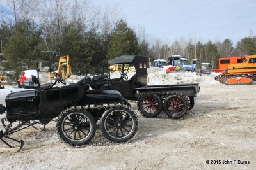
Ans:
{"type": "Polygon", "coordinates": [[[120,55],[145,55],[151,60],[172,54],[201,59],[218,67],[219,57],[256,54],[256,38],[248,36],[234,47],[223,42],[176,39],[171,45],[147,34],[144,27],[132,28],[118,5],[99,8],[92,1],[8,0],[12,15],[1,14],[0,64],[10,80],[21,71],[35,69],[36,60],[58,64],[60,55],[70,55],[73,74],[108,72],[107,61],[120,55]]]}

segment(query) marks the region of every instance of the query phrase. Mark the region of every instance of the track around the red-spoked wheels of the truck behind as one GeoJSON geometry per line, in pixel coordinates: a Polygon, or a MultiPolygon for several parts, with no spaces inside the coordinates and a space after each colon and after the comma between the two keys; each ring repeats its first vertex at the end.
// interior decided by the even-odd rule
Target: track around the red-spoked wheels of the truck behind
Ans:
{"type": "MultiPolygon", "coordinates": [[[[143,92],[143,93],[140,94],[140,96],[147,95],[147,94],[156,94],[156,95],[158,95],[161,99],[162,99],[163,97],[166,98],[167,96],[170,96],[170,95],[182,96],[182,97],[184,97],[184,99],[186,100],[186,103],[188,104],[187,111],[186,111],[186,114],[185,114],[185,115],[187,115],[187,114],[189,113],[189,110],[188,110],[188,108],[189,108],[188,99],[187,99],[187,97],[184,96],[183,94],[179,94],[179,93],[175,93],[175,92],[143,92]]],[[[138,97],[138,99],[139,99],[139,98],[140,98],[140,97],[138,97]]],[[[164,103],[164,101],[163,101],[163,103],[164,103]]],[[[138,108],[138,110],[140,111],[138,101],[137,101],[137,108],[138,108]]],[[[140,111],[140,113],[141,113],[141,111],[140,111]]],[[[165,112],[164,112],[164,113],[165,113],[165,112]]],[[[173,119],[173,118],[168,117],[168,116],[159,116],[159,115],[158,115],[157,117],[147,117],[147,116],[143,115],[142,113],[141,113],[141,115],[142,115],[143,117],[146,117],[146,118],[173,119]]],[[[185,115],[184,115],[184,116],[185,116],[185,115]]],[[[183,116],[183,117],[184,117],[184,116],[183,116]]]]}

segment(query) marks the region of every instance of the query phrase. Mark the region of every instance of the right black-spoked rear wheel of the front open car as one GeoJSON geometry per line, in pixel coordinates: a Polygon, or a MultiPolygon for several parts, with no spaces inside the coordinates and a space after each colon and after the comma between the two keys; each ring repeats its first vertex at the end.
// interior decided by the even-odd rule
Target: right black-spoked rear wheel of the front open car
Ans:
{"type": "Polygon", "coordinates": [[[138,131],[138,118],[131,109],[115,106],[103,113],[100,130],[109,141],[126,142],[138,131]]]}

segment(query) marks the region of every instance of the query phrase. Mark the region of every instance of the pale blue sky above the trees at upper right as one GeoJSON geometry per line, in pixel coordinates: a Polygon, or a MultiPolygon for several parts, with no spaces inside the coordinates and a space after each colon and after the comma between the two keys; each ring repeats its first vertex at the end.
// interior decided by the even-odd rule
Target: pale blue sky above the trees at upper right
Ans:
{"type": "Polygon", "coordinates": [[[93,0],[97,6],[116,3],[132,27],[166,41],[193,38],[236,45],[256,33],[255,0],[93,0]],[[250,30],[251,33],[250,33],[250,30]]]}

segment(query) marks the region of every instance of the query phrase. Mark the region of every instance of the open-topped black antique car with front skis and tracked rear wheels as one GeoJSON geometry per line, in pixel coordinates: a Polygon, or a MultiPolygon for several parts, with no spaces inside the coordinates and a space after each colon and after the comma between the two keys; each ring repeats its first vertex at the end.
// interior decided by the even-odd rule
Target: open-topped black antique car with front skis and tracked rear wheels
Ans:
{"type": "Polygon", "coordinates": [[[95,135],[97,120],[100,120],[100,131],[110,141],[125,142],[136,134],[138,119],[120,92],[99,88],[89,90],[89,86],[108,83],[104,76],[54,87],[57,81],[65,84],[65,80],[54,73],[57,80],[51,83],[49,70],[49,62],[38,61],[38,79],[33,77],[38,89],[11,92],[6,96],[6,107],[0,104],[0,114],[6,114],[2,119],[4,130],[0,131],[0,140],[11,149],[15,148],[8,140],[19,142],[18,150],[23,146],[23,141],[13,139],[11,134],[35,127],[35,124],[46,125],[56,117],[58,135],[65,143],[74,146],[90,142],[95,135]]]}

